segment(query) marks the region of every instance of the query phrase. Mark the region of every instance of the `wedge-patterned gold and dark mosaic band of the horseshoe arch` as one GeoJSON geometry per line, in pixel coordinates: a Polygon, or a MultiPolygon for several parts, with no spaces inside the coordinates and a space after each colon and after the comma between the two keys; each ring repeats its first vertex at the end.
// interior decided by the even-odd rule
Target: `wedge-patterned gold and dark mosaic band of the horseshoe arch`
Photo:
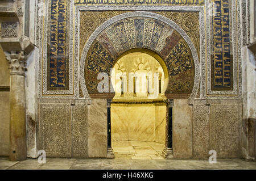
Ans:
{"type": "MultiPolygon", "coordinates": [[[[92,18],[92,15],[90,16],[92,18]]],[[[87,20],[81,27],[85,28],[88,23],[97,23],[95,17],[92,19],[87,20]]],[[[90,27],[94,29],[96,26],[90,27]]],[[[187,31],[192,28],[195,26],[189,24],[187,31]]],[[[197,30],[198,27],[195,29],[197,30]]],[[[89,35],[87,39],[88,37],[89,35]]],[[[122,53],[134,48],[152,50],[162,57],[170,76],[166,93],[190,94],[192,92],[195,65],[187,42],[172,27],[159,20],[134,17],[111,24],[90,46],[85,60],[85,83],[89,94],[98,94],[97,85],[100,81],[97,75],[101,72],[110,75],[110,69],[113,68],[115,60],[122,53]]]]}

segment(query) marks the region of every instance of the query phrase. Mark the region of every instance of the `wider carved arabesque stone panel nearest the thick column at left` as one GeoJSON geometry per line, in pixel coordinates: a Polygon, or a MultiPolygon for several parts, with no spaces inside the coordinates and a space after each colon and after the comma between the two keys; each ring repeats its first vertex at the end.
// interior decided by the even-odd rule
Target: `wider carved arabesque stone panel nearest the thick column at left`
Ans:
{"type": "Polygon", "coordinates": [[[40,149],[47,157],[71,157],[70,104],[40,104],[40,149]]]}

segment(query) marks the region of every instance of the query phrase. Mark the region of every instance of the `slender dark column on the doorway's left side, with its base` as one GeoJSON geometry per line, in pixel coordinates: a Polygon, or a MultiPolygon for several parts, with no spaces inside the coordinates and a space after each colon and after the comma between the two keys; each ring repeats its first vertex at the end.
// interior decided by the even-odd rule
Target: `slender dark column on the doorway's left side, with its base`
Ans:
{"type": "Polygon", "coordinates": [[[110,99],[107,100],[107,107],[108,107],[108,149],[107,149],[107,158],[114,158],[114,153],[112,149],[112,142],[111,142],[111,101],[110,99]]]}

